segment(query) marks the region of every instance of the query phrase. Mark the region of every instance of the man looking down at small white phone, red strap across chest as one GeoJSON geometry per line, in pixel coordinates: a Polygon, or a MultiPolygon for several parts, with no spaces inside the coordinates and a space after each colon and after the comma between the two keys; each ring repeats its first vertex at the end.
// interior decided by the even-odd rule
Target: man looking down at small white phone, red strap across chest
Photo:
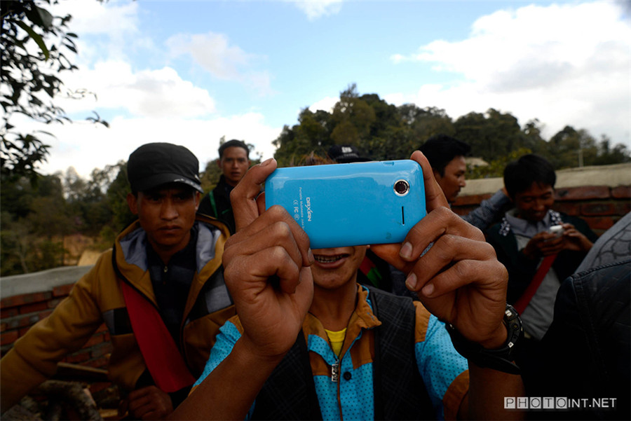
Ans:
{"type": "MultiPolygon", "coordinates": [[[[487,240],[508,269],[508,303],[524,322],[517,364],[531,373],[539,341],[554,315],[561,282],[574,273],[597,235],[580,218],[552,210],[556,174],[541,156],[528,154],[506,166],[504,186],[514,209],[487,231],[487,240]]],[[[524,379],[529,387],[527,376],[524,379]]]]}

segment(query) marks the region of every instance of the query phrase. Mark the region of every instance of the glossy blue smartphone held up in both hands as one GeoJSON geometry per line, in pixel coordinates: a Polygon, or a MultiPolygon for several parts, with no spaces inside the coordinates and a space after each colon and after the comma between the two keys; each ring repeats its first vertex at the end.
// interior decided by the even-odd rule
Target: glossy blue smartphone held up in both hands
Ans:
{"type": "Polygon", "coordinates": [[[402,242],[426,215],[421,165],[413,160],[277,168],[265,207],[284,207],[312,249],[402,242]]]}

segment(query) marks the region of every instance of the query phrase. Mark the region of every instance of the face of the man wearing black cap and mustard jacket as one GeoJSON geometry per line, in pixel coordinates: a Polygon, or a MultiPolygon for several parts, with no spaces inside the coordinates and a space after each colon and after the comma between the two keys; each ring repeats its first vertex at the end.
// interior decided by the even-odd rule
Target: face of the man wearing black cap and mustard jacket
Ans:
{"type": "Polygon", "coordinates": [[[130,193],[127,202],[158,254],[161,251],[172,254],[186,247],[199,205],[198,191],[168,184],[138,192],[137,197],[130,193]]]}

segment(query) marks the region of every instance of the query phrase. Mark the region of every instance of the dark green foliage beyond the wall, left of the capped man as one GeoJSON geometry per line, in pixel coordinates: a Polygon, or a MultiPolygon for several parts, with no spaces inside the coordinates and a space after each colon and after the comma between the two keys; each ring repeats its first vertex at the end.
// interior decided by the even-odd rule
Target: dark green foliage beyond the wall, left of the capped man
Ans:
{"type": "Polygon", "coordinates": [[[135,216],[125,200],[129,192],[126,163],[94,170],[82,179],[74,168],[65,174],[6,181],[0,191],[0,275],[55,268],[65,262],[64,237],[97,238],[111,247],[135,216]]]}

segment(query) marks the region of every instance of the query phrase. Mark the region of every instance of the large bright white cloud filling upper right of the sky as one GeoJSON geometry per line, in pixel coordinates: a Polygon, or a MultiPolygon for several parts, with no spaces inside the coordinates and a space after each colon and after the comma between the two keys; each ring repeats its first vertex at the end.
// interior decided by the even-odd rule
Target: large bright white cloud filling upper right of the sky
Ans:
{"type": "Polygon", "coordinates": [[[631,25],[613,2],[498,11],[476,20],[468,39],[393,55],[395,63],[425,62],[454,80],[386,97],[440,106],[454,118],[493,107],[521,124],[539,118],[547,137],[573,125],[631,145],[630,51],[631,25]]]}

